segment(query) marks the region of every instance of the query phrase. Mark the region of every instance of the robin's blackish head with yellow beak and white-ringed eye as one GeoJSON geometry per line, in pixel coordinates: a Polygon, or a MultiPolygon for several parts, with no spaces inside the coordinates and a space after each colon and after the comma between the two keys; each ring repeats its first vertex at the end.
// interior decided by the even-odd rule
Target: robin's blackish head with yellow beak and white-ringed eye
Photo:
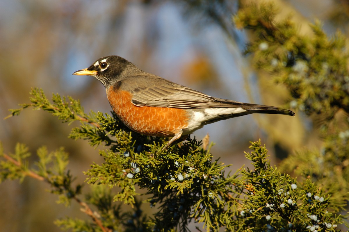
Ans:
{"type": "Polygon", "coordinates": [[[73,75],[89,75],[102,82],[105,88],[121,80],[127,74],[140,71],[133,63],[117,55],[109,55],[96,60],[88,68],[81,69],[73,75]],[[122,75],[124,74],[124,75],[122,75]]]}

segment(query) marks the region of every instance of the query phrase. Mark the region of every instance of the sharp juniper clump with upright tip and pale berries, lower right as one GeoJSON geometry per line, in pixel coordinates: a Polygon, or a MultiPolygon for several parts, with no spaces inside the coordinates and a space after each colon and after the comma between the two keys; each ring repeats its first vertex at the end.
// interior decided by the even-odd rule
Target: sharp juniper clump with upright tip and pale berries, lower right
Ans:
{"type": "Polygon", "coordinates": [[[246,158],[254,163],[254,170],[242,170],[247,196],[240,215],[246,218],[244,228],[248,231],[334,231],[339,217],[328,212],[329,195],[306,179],[297,182],[276,167],[270,167],[267,150],[259,142],[252,143],[246,158]],[[277,181],[276,181],[277,180],[277,181]],[[313,230],[312,230],[312,229],[313,230]]]}

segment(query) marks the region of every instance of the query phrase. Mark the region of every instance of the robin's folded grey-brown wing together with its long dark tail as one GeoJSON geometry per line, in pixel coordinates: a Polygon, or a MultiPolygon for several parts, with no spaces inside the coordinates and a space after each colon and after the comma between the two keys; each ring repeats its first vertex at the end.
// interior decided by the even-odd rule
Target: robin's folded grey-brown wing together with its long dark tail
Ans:
{"type": "MultiPolygon", "coordinates": [[[[233,100],[215,98],[205,93],[179,85],[161,77],[147,74],[128,77],[124,86],[132,93],[132,103],[137,106],[172,107],[183,109],[222,107],[241,107],[249,113],[287,114],[295,113],[275,106],[235,102],[233,100]],[[127,83],[126,83],[127,82],[127,83]]],[[[246,113],[244,113],[246,114],[246,113]]]]}

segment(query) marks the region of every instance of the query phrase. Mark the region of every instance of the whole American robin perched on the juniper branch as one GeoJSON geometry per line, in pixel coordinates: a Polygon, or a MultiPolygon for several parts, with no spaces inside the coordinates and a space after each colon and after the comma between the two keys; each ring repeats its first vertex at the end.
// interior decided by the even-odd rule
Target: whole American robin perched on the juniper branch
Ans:
{"type": "Polygon", "coordinates": [[[279,107],[216,98],[146,73],[117,55],[102,57],[73,75],[102,82],[113,111],[135,132],[173,137],[165,146],[203,126],[252,113],[295,115],[279,107]]]}

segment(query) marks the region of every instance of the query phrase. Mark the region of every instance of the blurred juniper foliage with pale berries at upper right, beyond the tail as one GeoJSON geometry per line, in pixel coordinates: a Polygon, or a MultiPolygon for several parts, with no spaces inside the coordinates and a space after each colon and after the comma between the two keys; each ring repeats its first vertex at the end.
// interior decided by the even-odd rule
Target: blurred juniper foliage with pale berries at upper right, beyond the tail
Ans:
{"type": "Polygon", "coordinates": [[[290,17],[275,22],[273,3],[243,7],[234,17],[236,27],[248,28],[254,40],[246,53],[253,54],[257,69],[272,73],[284,83],[294,100],[290,105],[308,114],[333,117],[339,108],[349,112],[349,74],[346,37],[338,31],[332,38],[317,22],[311,37],[300,35],[290,17]]]}

